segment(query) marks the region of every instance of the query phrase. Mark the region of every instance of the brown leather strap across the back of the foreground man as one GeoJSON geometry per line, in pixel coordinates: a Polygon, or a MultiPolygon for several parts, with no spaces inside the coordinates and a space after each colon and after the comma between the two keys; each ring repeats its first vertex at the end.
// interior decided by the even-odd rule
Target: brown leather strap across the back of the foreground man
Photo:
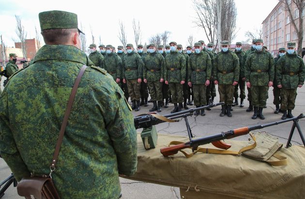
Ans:
{"type": "Polygon", "coordinates": [[[63,120],[62,120],[62,123],[61,123],[61,131],[60,131],[60,134],[58,136],[58,140],[57,140],[56,147],[55,147],[55,152],[53,154],[53,159],[52,159],[52,162],[51,162],[51,165],[50,165],[51,173],[52,173],[52,171],[55,170],[58,154],[59,154],[60,149],[61,149],[61,142],[62,142],[62,139],[63,139],[63,134],[64,134],[64,131],[65,131],[66,126],[67,126],[67,122],[68,122],[68,119],[69,119],[69,116],[70,116],[70,112],[71,112],[71,109],[72,109],[72,105],[73,105],[73,102],[74,102],[74,98],[75,98],[75,95],[76,95],[76,92],[77,92],[79,82],[81,80],[81,77],[84,75],[84,72],[85,72],[86,68],[87,68],[87,66],[85,66],[85,65],[83,65],[81,67],[81,69],[80,69],[80,71],[79,71],[79,73],[76,77],[76,80],[74,82],[72,92],[70,94],[70,98],[69,98],[69,101],[68,101],[67,109],[66,109],[66,112],[64,113],[63,120]]]}

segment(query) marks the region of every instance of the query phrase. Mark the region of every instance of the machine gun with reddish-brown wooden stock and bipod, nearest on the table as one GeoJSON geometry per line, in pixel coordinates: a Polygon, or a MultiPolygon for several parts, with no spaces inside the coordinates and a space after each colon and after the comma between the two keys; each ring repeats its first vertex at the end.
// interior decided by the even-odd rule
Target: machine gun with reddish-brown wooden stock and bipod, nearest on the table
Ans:
{"type": "Polygon", "coordinates": [[[266,124],[258,124],[258,125],[251,126],[251,127],[245,126],[245,127],[237,128],[237,129],[234,129],[234,130],[229,130],[227,132],[221,132],[220,134],[216,134],[216,135],[213,135],[213,136],[208,136],[208,137],[205,137],[205,138],[192,139],[191,137],[189,137],[190,138],[189,142],[185,142],[185,143],[182,143],[182,144],[162,148],[160,150],[160,152],[164,156],[169,156],[169,155],[176,154],[176,153],[178,153],[178,151],[180,151],[182,149],[186,149],[186,148],[191,148],[194,152],[198,149],[198,146],[203,145],[203,144],[208,144],[208,143],[211,143],[211,142],[213,143],[213,142],[223,140],[223,139],[230,139],[230,138],[235,138],[235,137],[238,137],[238,136],[243,136],[243,135],[248,134],[252,130],[261,129],[261,128],[265,128],[265,127],[268,127],[268,126],[273,126],[273,125],[276,125],[276,124],[280,124],[280,123],[284,123],[284,122],[290,122],[290,121],[293,121],[293,126],[292,126],[291,131],[290,131],[290,136],[289,136],[289,139],[288,139],[287,147],[289,147],[291,145],[290,141],[291,141],[291,137],[292,137],[292,134],[293,134],[293,131],[294,131],[295,127],[297,127],[297,129],[299,131],[299,134],[301,136],[301,139],[303,141],[303,144],[305,146],[305,139],[304,139],[304,136],[302,134],[301,128],[298,124],[298,120],[302,119],[302,118],[305,118],[305,116],[303,114],[300,114],[299,116],[293,117],[293,118],[290,118],[290,119],[277,121],[277,122],[266,123],[266,124]]]}

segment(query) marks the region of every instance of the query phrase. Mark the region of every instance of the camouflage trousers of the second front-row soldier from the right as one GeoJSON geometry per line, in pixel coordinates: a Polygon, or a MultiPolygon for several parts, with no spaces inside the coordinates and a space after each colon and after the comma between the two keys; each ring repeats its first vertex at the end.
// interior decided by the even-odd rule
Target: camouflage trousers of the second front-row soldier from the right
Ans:
{"type": "Polygon", "coordinates": [[[268,86],[251,86],[252,105],[254,107],[266,106],[268,90],[268,86]]]}

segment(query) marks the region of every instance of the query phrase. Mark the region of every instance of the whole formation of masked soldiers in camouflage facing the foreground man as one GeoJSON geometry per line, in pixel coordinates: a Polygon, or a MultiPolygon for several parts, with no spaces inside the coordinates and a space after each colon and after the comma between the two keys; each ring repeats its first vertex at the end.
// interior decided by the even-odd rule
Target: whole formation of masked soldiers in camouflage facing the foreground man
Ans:
{"type": "MultiPolygon", "coordinates": [[[[220,116],[232,117],[232,107],[244,107],[245,87],[248,90],[249,107],[253,111],[252,119],[265,119],[269,87],[274,87],[274,113],[283,112],[282,119],[292,117],[296,90],[302,87],[305,78],[305,66],[302,58],[295,52],[295,43],[288,43],[287,49],[279,49],[278,57],[273,59],[261,39],[253,40],[251,49],[243,51],[241,42],[237,42],[234,51],[229,42],[221,42],[221,51],[214,52],[214,45],[207,46],[200,40],[194,46],[183,46],[170,42],[167,46],[149,44],[147,53],[143,46],[127,44],[123,46],[90,45],[90,60],[112,75],[122,88],[126,99],[130,97],[132,109],[140,106],[153,107],[149,111],[161,112],[161,107],[174,104],[171,113],[195,105],[205,106],[213,103],[218,85],[222,106],[220,116]],[[276,65],[275,65],[276,64],[276,65]],[[238,94],[240,90],[240,94],[238,94]],[[149,93],[151,100],[148,101],[149,93]],[[240,104],[238,101],[240,98],[240,104]],[[165,101],[165,102],[164,102],[165,101]]],[[[209,110],[211,110],[209,108],[209,110]]],[[[204,116],[202,109],[194,113],[204,116]]]]}

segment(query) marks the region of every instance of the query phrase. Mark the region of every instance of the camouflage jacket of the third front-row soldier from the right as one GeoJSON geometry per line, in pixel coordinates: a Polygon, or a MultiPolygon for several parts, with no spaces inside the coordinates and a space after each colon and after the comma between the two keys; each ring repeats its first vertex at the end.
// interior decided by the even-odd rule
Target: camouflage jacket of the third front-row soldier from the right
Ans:
{"type": "Polygon", "coordinates": [[[218,84],[232,84],[239,80],[239,60],[237,55],[228,50],[222,50],[214,59],[213,78],[218,84]]]}

